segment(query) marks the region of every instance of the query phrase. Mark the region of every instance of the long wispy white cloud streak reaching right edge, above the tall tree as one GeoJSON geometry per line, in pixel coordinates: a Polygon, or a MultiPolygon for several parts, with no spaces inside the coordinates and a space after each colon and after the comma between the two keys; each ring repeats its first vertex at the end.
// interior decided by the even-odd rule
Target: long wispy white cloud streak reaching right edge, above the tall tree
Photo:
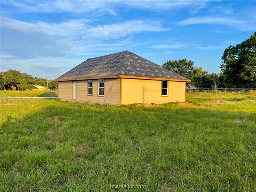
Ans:
{"type": "Polygon", "coordinates": [[[178,22],[180,26],[193,25],[193,24],[216,24],[216,25],[226,25],[230,27],[237,28],[239,30],[255,30],[255,20],[239,20],[234,18],[226,17],[192,17],[187,20],[178,22]]]}

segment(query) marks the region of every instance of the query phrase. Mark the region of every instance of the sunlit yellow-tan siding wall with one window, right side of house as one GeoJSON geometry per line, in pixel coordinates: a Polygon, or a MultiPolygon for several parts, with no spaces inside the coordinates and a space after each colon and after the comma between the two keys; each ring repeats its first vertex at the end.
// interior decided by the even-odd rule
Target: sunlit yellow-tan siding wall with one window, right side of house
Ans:
{"type": "Polygon", "coordinates": [[[184,102],[186,94],[185,82],[168,82],[168,96],[162,96],[162,81],[122,79],[122,104],[184,102]]]}

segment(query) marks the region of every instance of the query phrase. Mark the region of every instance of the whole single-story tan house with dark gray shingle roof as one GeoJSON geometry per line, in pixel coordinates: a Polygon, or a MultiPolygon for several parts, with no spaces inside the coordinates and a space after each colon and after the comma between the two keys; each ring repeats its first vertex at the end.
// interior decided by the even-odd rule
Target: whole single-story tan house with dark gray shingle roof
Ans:
{"type": "Polygon", "coordinates": [[[58,97],[100,104],[184,102],[184,78],[130,51],[89,58],[56,79],[58,97]]]}

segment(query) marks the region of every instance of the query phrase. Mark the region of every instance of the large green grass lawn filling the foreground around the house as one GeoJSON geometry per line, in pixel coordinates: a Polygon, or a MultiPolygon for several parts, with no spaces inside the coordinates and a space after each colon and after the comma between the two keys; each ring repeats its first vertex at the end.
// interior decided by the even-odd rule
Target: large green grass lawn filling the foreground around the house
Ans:
{"type": "MultiPolygon", "coordinates": [[[[2,92],[1,92],[2,93],[2,92]]],[[[256,191],[256,92],[110,106],[1,101],[1,191],[256,191]]]]}

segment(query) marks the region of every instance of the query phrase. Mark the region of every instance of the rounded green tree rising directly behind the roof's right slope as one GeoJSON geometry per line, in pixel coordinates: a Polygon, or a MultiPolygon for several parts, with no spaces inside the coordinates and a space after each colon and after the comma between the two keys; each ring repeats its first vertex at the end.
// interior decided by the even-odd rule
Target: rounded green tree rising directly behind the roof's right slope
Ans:
{"type": "Polygon", "coordinates": [[[173,61],[169,60],[163,64],[163,67],[188,79],[192,77],[193,71],[195,70],[194,62],[186,58],[173,61]]]}

